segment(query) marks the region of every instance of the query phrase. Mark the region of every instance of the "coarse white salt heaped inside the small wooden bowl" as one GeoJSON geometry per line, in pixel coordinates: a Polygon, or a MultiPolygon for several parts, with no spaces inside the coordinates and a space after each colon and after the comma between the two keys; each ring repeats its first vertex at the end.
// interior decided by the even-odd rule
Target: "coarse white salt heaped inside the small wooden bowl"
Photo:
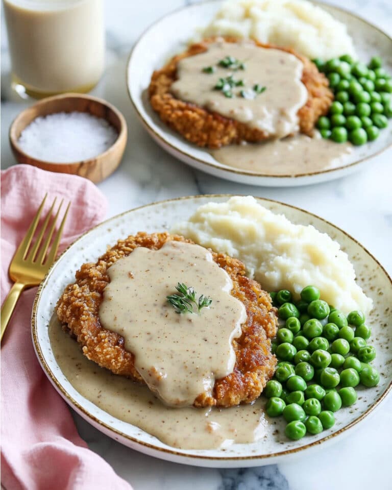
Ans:
{"type": "Polygon", "coordinates": [[[70,163],[100,155],[117,136],[105,119],[86,112],[58,112],[34,119],[18,143],[24,153],[38,160],[70,163]]]}

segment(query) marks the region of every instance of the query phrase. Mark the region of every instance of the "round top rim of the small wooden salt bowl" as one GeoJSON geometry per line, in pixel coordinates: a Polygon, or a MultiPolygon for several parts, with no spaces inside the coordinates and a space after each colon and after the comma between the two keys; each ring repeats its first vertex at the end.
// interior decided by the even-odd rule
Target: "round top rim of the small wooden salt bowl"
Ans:
{"type": "MultiPolygon", "coordinates": [[[[59,112],[61,112],[61,111],[59,111],[59,112]]],[[[80,111],[78,111],[78,112],[80,112],[80,111]]],[[[56,112],[51,112],[50,114],[56,114],[56,112]]],[[[49,114],[46,114],[46,115],[49,115],[49,114]]],[[[40,117],[40,116],[38,115],[37,117],[40,117]]],[[[32,119],[32,121],[34,121],[37,117],[32,119]]],[[[107,119],[105,118],[105,120],[107,120],[107,119]]],[[[78,168],[81,163],[89,163],[89,162],[93,162],[96,159],[104,159],[105,157],[107,157],[110,153],[112,153],[114,151],[114,149],[117,148],[117,146],[119,146],[122,143],[123,138],[125,138],[125,140],[127,139],[127,133],[128,133],[127,121],[125,120],[124,115],[122,115],[122,113],[115,106],[113,106],[110,102],[107,102],[104,99],[101,99],[101,97],[95,97],[93,95],[81,94],[81,93],[76,93],[76,92],[66,92],[66,93],[61,93],[61,94],[57,94],[57,95],[52,95],[50,97],[45,97],[44,99],[40,99],[39,101],[35,102],[33,105],[31,105],[31,106],[27,107],[26,109],[23,109],[21,112],[19,112],[19,114],[17,114],[17,116],[11,122],[10,129],[8,132],[8,139],[9,139],[12,151],[13,152],[17,151],[23,157],[32,160],[34,162],[34,165],[37,165],[37,166],[38,165],[39,166],[51,165],[51,166],[60,166],[60,167],[61,166],[65,167],[66,165],[68,165],[70,167],[75,166],[76,168],[78,168]],[[40,160],[40,159],[32,157],[28,153],[24,152],[20,148],[19,143],[18,143],[18,139],[15,137],[15,134],[14,134],[15,133],[15,126],[19,122],[19,119],[23,116],[23,114],[32,110],[34,107],[44,106],[48,102],[61,101],[62,99],[90,100],[90,101],[99,103],[102,106],[107,107],[112,112],[114,112],[114,114],[118,117],[118,120],[120,122],[120,129],[118,131],[117,138],[115,139],[113,144],[111,144],[107,150],[105,150],[102,153],[99,153],[98,155],[95,155],[94,157],[87,158],[86,160],[77,160],[74,162],[50,162],[48,160],[40,160]]]]}

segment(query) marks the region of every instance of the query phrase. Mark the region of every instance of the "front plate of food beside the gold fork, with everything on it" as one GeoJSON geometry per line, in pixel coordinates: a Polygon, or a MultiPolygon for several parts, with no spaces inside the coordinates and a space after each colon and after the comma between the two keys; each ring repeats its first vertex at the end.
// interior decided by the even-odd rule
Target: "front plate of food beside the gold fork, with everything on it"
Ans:
{"type": "MultiPolygon", "coordinates": [[[[79,238],[51,268],[38,290],[32,316],[34,346],[42,368],[60,395],[83,418],[103,433],[143,453],[206,467],[269,464],[320,445],[325,447],[360,423],[385,398],[392,379],[388,351],[392,338],[389,308],[392,285],[377,260],[344,231],[306,211],[252,197],[229,199],[229,195],[188,197],[151,204],[110,218],[79,238]],[[174,231],[201,246],[228,255],[211,258],[205,248],[179,238],[176,241],[169,239],[167,246],[162,247],[167,240],[165,233],[174,231]],[[173,247],[176,250],[171,250],[173,247]],[[197,248],[194,251],[192,247],[197,248]],[[193,254],[191,259],[185,249],[193,254]],[[152,253],[158,250],[159,258],[154,255],[158,252],[152,253]],[[173,260],[174,253],[180,254],[176,260],[173,260]],[[158,262],[153,258],[148,263],[153,256],[158,262]],[[240,257],[247,264],[247,270],[230,256],[240,257]],[[101,259],[96,262],[99,257],[101,259]],[[203,263],[207,264],[208,270],[203,268],[202,273],[200,260],[207,260],[203,263]],[[85,265],[82,267],[82,264],[85,265]],[[110,264],[115,266],[107,269],[110,264]],[[226,279],[222,268],[228,274],[226,279]],[[342,354],[347,356],[347,338],[354,333],[350,327],[343,328],[346,318],[337,312],[335,318],[331,313],[329,326],[323,327],[322,334],[314,333],[313,330],[321,328],[322,324],[310,320],[305,327],[307,318],[300,316],[298,321],[297,307],[285,296],[275,298],[280,304],[287,301],[279,310],[280,317],[290,317],[287,328],[279,331],[280,344],[276,353],[281,360],[298,361],[296,376],[291,376],[294,367],[290,362],[277,369],[270,342],[276,334],[277,310],[271,308],[269,296],[260,285],[244,274],[256,277],[266,290],[276,290],[277,284],[291,289],[301,311],[304,304],[298,303],[299,291],[308,282],[316,283],[322,289],[322,299],[333,302],[346,314],[358,308],[371,310],[366,324],[358,314],[350,319],[351,324],[358,326],[355,330],[357,338],[350,344],[347,365],[342,365],[341,361],[345,361],[342,354]],[[230,283],[229,277],[232,296],[228,294],[230,287],[226,287],[230,283]],[[188,279],[188,284],[182,284],[188,279]],[[140,280],[144,285],[140,285],[140,280]],[[227,280],[229,283],[224,286],[227,280]],[[145,281],[150,281],[148,287],[145,281]],[[173,294],[166,300],[167,281],[173,294]],[[159,292],[161,285],[163,292],[159,292]],[[233,297],[239,301],[234,301],[233,297]],[[151,308],[154,309],[157,302],[158,313],[164,310],[164,314],[158,314],[161,320],[152,321],[151,308]],[[242,334],[238,337],[240,332],[236,330],[232,315],[237,315],[238,322],[243,321],[241,303],[246,308],[248,320],[246,325],[242,324],[242,334]],[[57,315],[68,331],[61,328],[57,315]],[[167,315],[174,324],[159,338],[156,325],[165,322],[167,315]],[[219,318],[224,318],[224,322],[219,318]],[[127,344],[130,341],[128,334],[121,330],[130,319],[148,325],[131,339],[131,349],[127,344]],[[332,325],[332,321],[335,324],[332,325]],[[303,324],[301,332],[305,332],[302,335],[298,332],[300,322],[303,324]],[[340,333],[336,324],[340,326],[340,333]],[[109,325],[110,331],[103,328],[105,325],[109,325]],[[291,338],[293,332],[296,332],[296,339],[291,338]],[[239,340],[234,341],[233,337],[239,340]],[[333,357],[325,351],[324,344],[329,345],[327,337],[331,342],[337,339],[331,351],[333,357]],[[366,347],[365,338],[369,339],[369,347],[366,347]],[[235,347],[234,371],[230,339],[235,347]],[[80,344],[89,358],[83,355],[80,344]],[[361,348],[364,348],[363,355],[358,354],[361,348]],[[377,351],[375,359],[374,348],[377,351]],[[293,360],[293,349],[298,351],[301,359],[293,360]],[[330,369],[323,370],[324,374],[320,369],[309,372],[313,368],[306,360],[314,349],[313,365],[321,367],[325,361],[325,365],[330,363],[330,369]],[[323,352],[320,354],[317,349],[323,352]],[[130,352],[137,352],[136,358],[130,352]],[[195,352],[200,356],[195,357],[195,352]],[[149,359],[151,354],[153,359],[149,359]],[[371,365],[361,364],[355,356],[371,365]],[[140,364],[143,359],[146,366],[150,365],[146,370],[146,366],[140,364]],[[199,367],[194,369],[194,363],[197,361],[203,370],[206,360],[208,365],[217,361],[217,365],[208,367],[207,371],[213,369],[216,378],[224,376],[216,379],[212,392],[208,376],[203,378],[207,380],[204,388],[194,385],[194,374],[199,370],[199,367]],[[223,360],[231,364],[226,365],[223,360]],[[342,374],[344,367],[346,373],[342,374]],[[336,381],[338,370],[341,379],[336,381]],[[358,371],[360,375],[356,374],[358,371]],[[264,394],[260,398],[258,395],[274,372],[276,381],[268,385],[265,395],[270,397],[269,400],[275,395],[275,399],[266,406],[268,399],[264,394]],[[171,405],[192,405],[194,395],[187,399],[189,386],[195,393],[204,389],[207,395],[195,399],[198,408],[169,408],[145,385],[129,379],[140,380],[138,373],[142,373],[152,390],[158,391],[171,405]],[[289,375],[291,381],[286,383],[285,378],[289,375]],[[313,376],[319,375],[320,381],[314,381],[313,376]],[[305,386],[301,384],[310,378],[313,381],[308,384],[313,387],[305,391],[310,401],[304,402],[305,386]],[[166,379],[172,383],[171,387],[165,385],[166,379]],[[287,384],[285,389],[290,393],[281,392],[279,379],[284,386],[287,384]],[[326,394],[324,388],[314,388],[317,382],[330,388],[338,382],[339,395],[335,389],[326,394]],[[181,390],[177,386],[181,386],[181,390]],[[279,414],[283,398],[291,406],[285,413],[286,421],[283,416],[273,416],[279,414]],[[321,405],[317,399],[323,399],[323,415],[320,415],[321,405]],[[241,401],[251,400],[256,403],[237,406],[241,401]],[[210,411],[209,405],[215,403],[219,407],[210,411]],[[348,406],[333,415],[332,411],[341,403],[348,406]],[[306,413],[318,413],[320,418],[313,415],[305,421],[301,404],[306,413]],[[287,429],[286,422],[290,420],[294,423],[291,422],[287,429]],[[306,424],[306,435],[303,424],[306,424]]],[[[329,310],[328,304],[315,300],[314,288],[310,288],[305,296],[307,302],[315,301],[309,314],[323,317],[325,326],[327,313],[324,309],[329,310]]],[[[279,322],[282,327],[282,320],[279,322]]]]}

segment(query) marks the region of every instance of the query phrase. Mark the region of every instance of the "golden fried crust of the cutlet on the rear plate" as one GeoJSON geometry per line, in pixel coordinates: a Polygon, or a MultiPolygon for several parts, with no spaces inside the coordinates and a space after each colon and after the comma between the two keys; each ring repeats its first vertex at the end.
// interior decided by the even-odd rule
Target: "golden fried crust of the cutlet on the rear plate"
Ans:
{"type": "MultiPolygon", "coordinates": [[[[225,37],[227,42],[237,42],[233,37],[225,37]]],[[[198,105],[176,99],[170,93],[170,86],[177,77],[177,64],[183,58],[204,53],[208,44],[216,38],[192,44],[187,51],[172,58],[160,70],[154,71],[149,86],[150,102],[160,118],[184,138],[198,146],[220,148],[228,144],[239,144],[241,141],[256,143],[268,138],[264,131],[250,128],[243,122],[210,112],[198,105]]],[[[333,94],[328,88],[328,80],[324,74],[307,58],[297,54],[290,48],[254,41],[260,47],[276,48],[299,58],[303,65],[302,83],[308,91],[306,104],[298,111],[301,133],[311,135],[314,125],[321,115],[328,112],[333,94]]]]}

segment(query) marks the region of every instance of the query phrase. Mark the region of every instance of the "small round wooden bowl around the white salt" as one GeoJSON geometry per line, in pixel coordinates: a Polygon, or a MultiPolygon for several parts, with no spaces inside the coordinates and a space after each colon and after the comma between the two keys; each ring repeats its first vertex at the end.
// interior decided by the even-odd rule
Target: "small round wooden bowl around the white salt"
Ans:
{"type": "Polygon", "coordinates": [[[52,172],[80,175],[96,183],[106,179],[118,167],[127,143],[127,123],[114,106],[102,99],[90,95],[65,93],[42,99],[22,111],[11,124],[9,138],[12,152],[19,163],[28,163],[52,172]],[[102,117],[117,130],[118,137],[106,152],[88,160],[69,163],[37,160],[23,152],[18,144],[20,133],[36,117],[73,111],[88,112],[96,117],[102,117]]]}

